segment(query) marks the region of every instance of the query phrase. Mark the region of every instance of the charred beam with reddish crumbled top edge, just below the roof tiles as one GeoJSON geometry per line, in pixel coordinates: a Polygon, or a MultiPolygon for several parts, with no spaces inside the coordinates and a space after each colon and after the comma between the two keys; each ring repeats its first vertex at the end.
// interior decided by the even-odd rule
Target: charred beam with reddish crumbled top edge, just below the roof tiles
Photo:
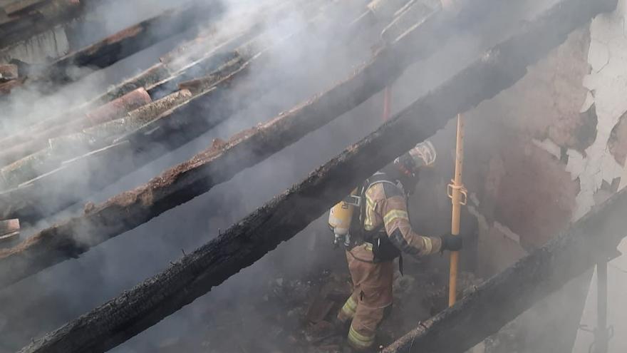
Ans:
{"type": "MultiPolygon", "coordinates": [[[[492,1],[494,0],[484,0],[484,6],[488,6],[492,1]]],[[[442,12],[437,14],[444,15],[442,12]]],[[[432,16],[432,19],[434,22],[431,24],[433,26],[431,29],[434,30],[434,33],[442,33],[439,31],[440,29],[450,28],[450,24],[456,22],[455,18],[448,15],[432,16]]],[[[450,34],[452,33],[454,31],[450,32],[450,34]]],[[[447,38],[447,35],[444,38],[447,38]]],[[[353,71],[351,76],[338,86],[302,103],[292,111],[272,119],[266,123],[264,128],[242,131],[229,140],[229,143],[218,143],[212,146],[212,148],[196,155],[195,158],[172,168],[172,170],[167,170],[152,182],[142,185],[132,192],[111,198],[81,217],[42,230],[13,249],[0,250],[0,283],[20,280],[45,267],[81,254],[91,246],[98,245],[110,237],[133,229],[166,210],[207,192],[217,183],[229,180],[240,170],[264,160],[277,150],[299,140],[306,133],[366,101],[400,76],[410,62],[429,55],[435,51],[439,44],[440,41],[434,40],[431,33],[425,34],[424,31],[415,31],[413,34],[403,37],[392,47],[380,49],[371,61],[364,64],[362,68],[353,71]],[[398,58],[405,53],[405,48],[413,48],[417,43],[422,44],[421,47],[424,51],[413,56],[411,60],[408,59],[407,62],[399,64],[398,58]],[[221,170],[219,165],[224,165],[226,169],[221,170]],[[145,202],[145,200],[154,200],[149,194],[156,196],[157,193],[160,195],[159,202],[145,202]],[[114,218],[115,221],[113,221],[114,218]],[[73,236],[84,232],[86,229],[89,229],[90,234],[93,235],[91,237],[93,241],[79,244],[73,236]],[[76,247],[71,243],[74,243],[76,247]],[[63,250],[58,251],[60,249],[63,250]],[[35,258],[36,261],[31,261],[35,258]]],[[[195,109],[194,106],[191,107],[195,109]]],[[[190,116],[190,111],[186,110],[187,108],[183,110],[185,113],[181,114],[182,117],[190,116]]],[[[155,138],[155,135],[157,137],[163,135],[162,140],[167,140],[165,137],[175,135],[177,131],[189,131],[190,126],[193,126],[196,131],[202,130],[199,128],[202,126],[202,121],[186,126],[182,123],[189,124],[190,119],[181,121],[166,116],[161,120],[165,120],[168,124],[165,128],[162,123],[157,129],[154,125],[148,124],[140,131],[150,131],[150,135],[148,135],[150,139],[155,138]]],[[[195,120],[199,120],[199,118],[195,120]]],[[[207,124],[206,120],[204,124],[207,124]]],[[[108,163],[95,164],[106,166],[107,170],[118,170],[117,167],[121,163],[133,164],[125,158],[120,158],[120,155],[124,155],[120,152],[132,149],[133,145],[149,145],[147,141],[135,142],[136,139],[141,140],[142,136],[142,133],[134,134],[133,138],[129,140],[130,143],[116,145],[112,150],[105,150],[102,155],[98,156],[98,158],[115,156],[115,159],[112,158],[113,160],[120,160],[117,165],[112,166],[111,163],[115,163],[113,160],[108,163]],[[114,153],[114,150],[117,153],[114,153]]],[[[182,138],[182,141],[187,140],[187,138],[182,138]]],[[[106,170],[104,173],[103,178],[111,178],[110,174],[106,174],[106,170]]],[[[76,180],[72,180],[73,189],[76,189],[76,180]]],[[[66,188],[51,189],[69,193],[66,192],[66,188]]],[[[28,189],[25,188],[24,191],[26,190],[28,189]]],[[[48,194],[44,193],[43,195],[48,194]]],[[[39,196],[41,198],[41,195],[39,196]]],[[[9,203],[15,203],[14,198],[6,198],[6,200],[9,203]]],[[[3,209],[12,210],[10,205],[5,206],[3,209]]]]}

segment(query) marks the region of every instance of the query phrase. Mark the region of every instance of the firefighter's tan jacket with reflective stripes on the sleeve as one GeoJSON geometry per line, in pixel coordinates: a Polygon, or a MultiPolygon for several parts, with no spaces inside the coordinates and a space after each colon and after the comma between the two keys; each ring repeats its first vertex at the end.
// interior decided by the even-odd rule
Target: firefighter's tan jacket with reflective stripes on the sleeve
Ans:
{"type": "Polygon", "coordinates": [[[376,182],[368,186],[364,196],[363,229],[366,232],[385,229],[385,234],[398,250],[414,257],[440,252],[440,237],[423,237],[412,229],[405,193],[397,185],[390,181],[376,182]]]}

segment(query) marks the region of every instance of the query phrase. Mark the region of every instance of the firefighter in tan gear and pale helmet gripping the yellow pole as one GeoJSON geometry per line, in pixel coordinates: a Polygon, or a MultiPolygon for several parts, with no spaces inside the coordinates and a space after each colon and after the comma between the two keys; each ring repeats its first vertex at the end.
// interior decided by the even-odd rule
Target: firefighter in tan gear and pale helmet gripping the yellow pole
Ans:
{"type": "Polygon", "coordinates": [[[445,250],[460,250],[462,237],[419,235],[410,225],[407,200],[418,182],[418,170],[435,160],[430,142],[420,143],[394,163],[375,173],[361,188],[361,202],[353,217],[351,241],[346,248],[353,294],[337,315],[334,328],[348,329],[348,344],[367,352],[375,344],[375,332],[392,308],[394,262],[401,252],[421,257],[445,250]]]}

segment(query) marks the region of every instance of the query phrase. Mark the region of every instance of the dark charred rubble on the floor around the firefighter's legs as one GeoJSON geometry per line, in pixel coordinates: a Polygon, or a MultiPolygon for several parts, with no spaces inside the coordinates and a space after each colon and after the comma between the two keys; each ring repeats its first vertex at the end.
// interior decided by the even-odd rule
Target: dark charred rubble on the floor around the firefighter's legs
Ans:
{"type": "MultiPolygon", "coordinates": [[[[381,345],[393,342],[434,310],[446,307],[446,274],[422,263],[411,272],[395,274],[394,309],[381,327],[381,345]]],[[[460,290],[479,282],[469,272],[460,273],[460,290]]],[[[155,352],[343,353],[346,337],[330,332],[328,326],[351,291],[346,269],[321,270],[298,278],[276,277],[245,299],[235,295],[228,307],[206,307],[202,314],[205,326],[196,342],[189,337],[168,338],[157,344],[155,352]],[[237,339],[234,333],[239,333],[237,339]]]]}

